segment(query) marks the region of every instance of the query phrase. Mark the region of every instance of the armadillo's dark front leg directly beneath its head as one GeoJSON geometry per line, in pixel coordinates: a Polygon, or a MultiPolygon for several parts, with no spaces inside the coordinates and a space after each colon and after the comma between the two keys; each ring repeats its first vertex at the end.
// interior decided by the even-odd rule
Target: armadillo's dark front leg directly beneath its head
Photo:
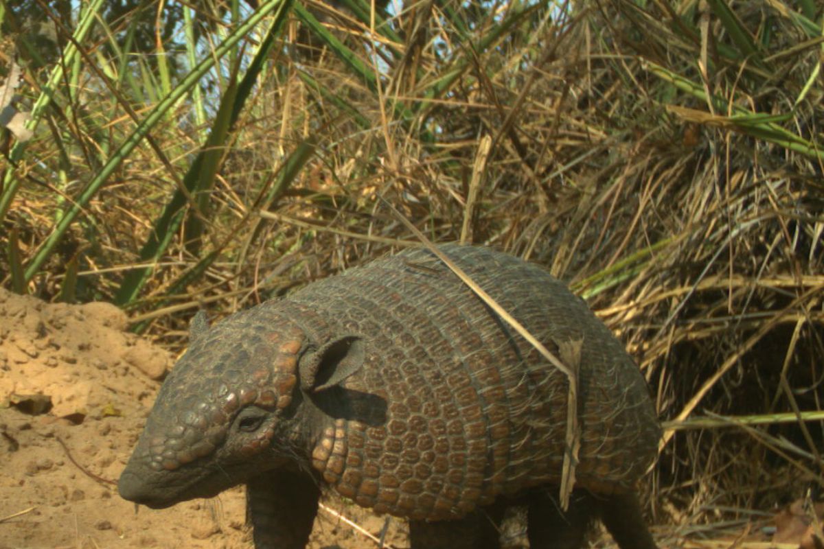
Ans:
{"type": "Polygon", "coordinates": [[[321,495],[317,482],[296,472],[269,471],[246,483],[246,522],[255,549],[303,549],[321,495]]]}

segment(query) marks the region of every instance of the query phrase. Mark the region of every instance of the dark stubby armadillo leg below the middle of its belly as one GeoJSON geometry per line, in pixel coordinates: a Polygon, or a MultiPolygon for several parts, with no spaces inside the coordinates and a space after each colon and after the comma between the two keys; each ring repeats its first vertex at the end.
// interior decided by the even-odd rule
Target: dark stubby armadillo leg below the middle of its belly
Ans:
{"type": "Polygon", "coordinates": [[[410,520],[411,549],[500,549],[503,501],[460,520],[410,520]]]}

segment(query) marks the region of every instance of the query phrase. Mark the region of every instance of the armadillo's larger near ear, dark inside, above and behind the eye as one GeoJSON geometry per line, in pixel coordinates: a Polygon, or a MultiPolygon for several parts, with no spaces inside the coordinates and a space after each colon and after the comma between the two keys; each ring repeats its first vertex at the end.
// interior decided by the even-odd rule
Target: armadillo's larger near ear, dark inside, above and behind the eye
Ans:
{"type": "Polygon", "coordinates": [[[358,336],[339,337],[320,349],[307,351],[297,365],[301,388],[317,393],[334,387],[360,370],[365,356],[363,339],[358,336]]]}

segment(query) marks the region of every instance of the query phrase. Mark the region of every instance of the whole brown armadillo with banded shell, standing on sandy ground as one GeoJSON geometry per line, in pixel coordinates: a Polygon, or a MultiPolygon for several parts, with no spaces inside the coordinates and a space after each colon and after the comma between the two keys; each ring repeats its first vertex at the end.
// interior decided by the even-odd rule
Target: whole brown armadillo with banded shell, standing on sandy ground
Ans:
{"type": "Polygon", "coordinates": [[[565,451],[565,376],[425,249],[213,328],[195,322],[120,494],[162,508],[245,482],[255,547],[304,547],[320,486],[409,518],[413,547],[495,547],[490,519],[511,503],[529,505],[531,547],[578,547],[577,530],[598,512],[621,547],[654,547],[634,485],[659,429],[637,366],[543,268],[441,249],[556,356],[580,343],[569,516],[581,520],[556,517],[550,498],[565,451]],[[559,541],[564,521],[576,541],[559,541]]]}

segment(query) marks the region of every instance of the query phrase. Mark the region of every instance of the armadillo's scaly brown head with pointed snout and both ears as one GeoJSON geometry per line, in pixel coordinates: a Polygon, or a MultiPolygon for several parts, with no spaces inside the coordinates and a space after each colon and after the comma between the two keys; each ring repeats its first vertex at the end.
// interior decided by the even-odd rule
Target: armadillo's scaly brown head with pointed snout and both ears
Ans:
{"type": "Polygon", "coordinates": [[[124,499],[160,509],[294,462],[302,394],[339,384],[363,364],[359,337],[312,342],[255,309],[214,328],[196,317],[189,350],[120,476],[124,499]]]}

